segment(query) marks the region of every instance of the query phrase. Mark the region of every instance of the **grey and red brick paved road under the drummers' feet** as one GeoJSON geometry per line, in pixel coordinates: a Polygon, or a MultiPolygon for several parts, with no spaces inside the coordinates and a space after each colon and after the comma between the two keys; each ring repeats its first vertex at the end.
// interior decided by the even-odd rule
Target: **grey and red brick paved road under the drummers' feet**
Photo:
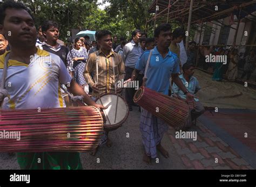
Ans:
{"type": "MultiPolygon", "coordinates": [[[[256,153],[254,144],[246,145],[244,139],[235,137],[236,134],[229,130],[231,129],[230,127],[226,128],[233,121],[234,112],[246,113],[244,118],[237,118],[238,121],[241,121],[239,128],[243,129],[242,122],[245,119],[247,122],[252,121],[255,111],[251,111],[250,116],[246,110],[223,110],[221,112],[225,112],[225,118],[220,114],[214,115],[215,118],[211,118],[211,114],[205,112],[198,119],[197,126],[190,129],[192,132],[197,132],[196,141],[192,139],[177,139],[175,136],[176,131],[173,128],[169,128],[169,132],[165,134],[162,140],[163,146],[170,154],[169,159],[165,159],[158,154],[159,163],[153,160],[152,164],[147,165],[142,161],[144,148],[139,132],[140,112],[138,112],[138,108],[135,108],[134,111],[130,112],[129,118],[123,126],[109,134],[113,141],[111,148],[103,145],[99,148],[96,156],[92,156],[89,153],[81,154],[83,168],[255,169],[256,153]],[[129,133],[129,138],[127,138],[127,133],[129,133]]],[[[250,126],[250,128],[250,131],[255,131],[254,126],[250,126]]],[[[247,140],[255,141],[255,138],[250,135],[247,140]]],[[[16,156],[10,157],[6,153],[1,153],[0,169],[19,169],[16,156]]]]}

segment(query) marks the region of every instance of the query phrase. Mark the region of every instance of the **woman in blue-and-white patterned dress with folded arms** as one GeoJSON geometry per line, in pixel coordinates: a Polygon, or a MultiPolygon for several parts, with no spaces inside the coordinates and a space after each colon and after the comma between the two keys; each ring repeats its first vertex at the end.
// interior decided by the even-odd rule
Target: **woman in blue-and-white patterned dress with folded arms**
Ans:
{"type": "Polygon", "coordinates": [[[89,85],[85,82],[83,75],[88,53],[86,48],[82,47],[82,44],[83,42],[80,38],[75,39],[75,47],[70,52],[69,61],[73,63],[75,81],[83,87],[84,91],[88,94],[89,85]]]}

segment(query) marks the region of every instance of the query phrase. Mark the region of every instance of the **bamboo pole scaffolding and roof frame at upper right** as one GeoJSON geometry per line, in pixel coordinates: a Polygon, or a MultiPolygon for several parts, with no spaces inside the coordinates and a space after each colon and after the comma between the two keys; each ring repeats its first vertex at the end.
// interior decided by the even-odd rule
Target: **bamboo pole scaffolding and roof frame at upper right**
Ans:
{"type": "MultiPolygon", "coordinates": [[[[196,65],[198,65],[199,48],[210,45],[201,44],[201,34],[204,30],[205,22],[213,23],[220,27],[230,27],[235,30],[233,47],[246,46],[255,47],[256,45],[236,45],[238,29],[241,19],[256,22],[256,16],[252,12],[256,11],[256,0],[155,0],[148,12],[154,13],[153,17],[146,21],[148,24],[159,17],[166,18],[166,23],[177,20],[181,24],[187,24],[188,34],[191,24],[197,24],[199,28],[199,45],[197,51],[196,65]],[[237,16],[237,25],[232,27],[219,21],[231,15],[237,16]],[[250,17],[248,17],[250,15],[250,17]]],[[[235,21],[234,21],[235,22],[235,21]]],[[[215,45],[227,46],[227,45],[215,45]]],[[[188,47],[188,35],[186,36],[186,49],[188,47]]]]}

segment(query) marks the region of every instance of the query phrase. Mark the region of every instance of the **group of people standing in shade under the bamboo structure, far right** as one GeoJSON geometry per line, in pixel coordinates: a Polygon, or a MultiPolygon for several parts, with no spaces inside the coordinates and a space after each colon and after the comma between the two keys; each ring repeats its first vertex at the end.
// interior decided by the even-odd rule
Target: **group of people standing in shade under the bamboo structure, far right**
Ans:
{"type": "MultiPolygon", "coordinates": [[[[193,61],[196,61],[196,56],[194,54],[195,53],[193,52],[193,61]]],[[[246,56],[244,54],[245,53],[238,53],[237,47],[225,46],[224,44],[221,45],[221,47],[200,47],[199,67],[203,67],[204,70],[212,69],[212,80],[214,81],[222,81],[224,76],[226,76],[227,80],[230,82],[234,82],[238,80],[238,78],[256,82],[256,76],[254,80],[250,79],[256,67],[255,51],[254,49],[251,49],[249,54],[246,56]],[[227,63],[205,63],[205,56],[210,54],[215,56],[227,56],[227,63]],[[239,70],[241,71],[241,75],[239,74],[239,70]]]]}

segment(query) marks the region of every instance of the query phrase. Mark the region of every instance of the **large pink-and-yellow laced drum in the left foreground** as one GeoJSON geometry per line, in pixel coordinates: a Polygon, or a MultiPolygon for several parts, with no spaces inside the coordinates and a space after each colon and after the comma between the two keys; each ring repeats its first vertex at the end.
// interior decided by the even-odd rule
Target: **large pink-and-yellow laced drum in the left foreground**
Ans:
{"type": "Polygon", "coordinates": [[[0,152],[87,152],[103,135],[94,106],[0,110],[0,152]]]}

